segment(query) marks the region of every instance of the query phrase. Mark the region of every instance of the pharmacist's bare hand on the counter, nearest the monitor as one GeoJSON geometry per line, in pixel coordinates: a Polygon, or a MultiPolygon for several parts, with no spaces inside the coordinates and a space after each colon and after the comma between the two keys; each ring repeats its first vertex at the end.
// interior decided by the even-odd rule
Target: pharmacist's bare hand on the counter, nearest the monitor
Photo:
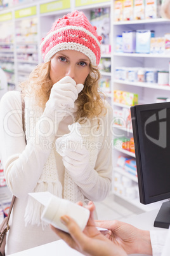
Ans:
{"type": "Polygon", "coordinates": [[[143,253],[152,255],[150,232],[137,229],[133,225],[119,220],[95,220],[97,227],[103,227],[112,231],[109,239],[121,246],[126,253],[143,253]]]}

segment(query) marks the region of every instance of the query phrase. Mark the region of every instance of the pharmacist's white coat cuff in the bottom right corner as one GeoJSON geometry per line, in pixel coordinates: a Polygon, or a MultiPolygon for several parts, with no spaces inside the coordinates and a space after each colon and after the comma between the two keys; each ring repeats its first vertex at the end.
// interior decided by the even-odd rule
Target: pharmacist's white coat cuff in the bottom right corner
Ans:
{"type": "Polygon", "coordinates": [[[160,256],[162,254],[164,244],[167,237],[167,230],[165,231],[150,231],[150,241],[152,245],[152,255],[160,256]]]}

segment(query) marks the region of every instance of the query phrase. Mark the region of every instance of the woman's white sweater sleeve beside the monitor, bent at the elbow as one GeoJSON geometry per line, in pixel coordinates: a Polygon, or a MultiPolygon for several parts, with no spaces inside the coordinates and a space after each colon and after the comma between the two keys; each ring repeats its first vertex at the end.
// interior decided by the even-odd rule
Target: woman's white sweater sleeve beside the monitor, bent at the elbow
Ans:
{"type": "Polygon", "coordinates": [[[108,108],[108,115],[104,119],[105,134],[101,149],[98,152],[95,168],[89,164],[84,174],[70,173],[74,182],[82,190],[84,196],[91,201],[101,201],[110,192],[112,183],[112,132],[110,124],[113,118],[112,108],[108,108]],[[108,118],[106,120],[106,118],[108,118]]]}

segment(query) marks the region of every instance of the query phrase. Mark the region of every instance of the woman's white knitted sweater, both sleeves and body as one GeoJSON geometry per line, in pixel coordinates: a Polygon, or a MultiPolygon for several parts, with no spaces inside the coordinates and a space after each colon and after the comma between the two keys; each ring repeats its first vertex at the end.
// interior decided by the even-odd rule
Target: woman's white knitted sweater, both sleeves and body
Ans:
{"type": "MultiPolygon", "coordinates": [[[[3,162],[8,188],[17,197],[10,218],[11,227],[8,233],[6,255],[56,240],[56,235],[49,227],[46,227],[45,231],[42,230],[41,225],[35,226],[28,223],[25,227],[24,220],[29,200],[27,194],[34,191],[37,184],[44,183],[44,181],[44,189],[51,189],[48,188],[48,180],[44,180],[43,176],[43,169],[51,151],[55,155],[53,162],[55,162],[57,171],[54,174],[56,177],[54,181],[61,183],[63,197],[71,201],[82,199],[82,195],[92,201],[105,199],[110,191],[112,180],[112,133],[110,132],[112,108],[108,104],[107,110],[107,115],[100,117],[99,129],[97,129],[98,125],[96,125],[95,119],[93,122],[86,122],[82,125],[81,134],[86,139],[86,148],[90,155],[89,166],[84,174],[74,175],[69,171],[65,172],[62,157],[56,150],[43,148],[41,139],[40,143],[35,142],[39,129],[41,128],[41,131],[46,129],[43,122],[41,122],[41,126],[39,121],[37,124],[33,122],[37,129],[34,130],[36,132],[30,136],[30,139],[27,135],[27,145],[25,146],[20,92],[8,92],[3,96],[0,104],[0,159],[3,162]]],[[[31,111],[28,111],[29,118],[31,118],[31,114],[31,111]]],[[[58,134],[69,133],[69,124],[72,124],[72,119],[69,117],[62,120],[58,127],[58,134]]],[[[28,131],[28,127],[26,130],[28,131]]],[[[57,136],[51,135],[45,139],[48,143],[53,143],[56,138],[57,136]]],[[[53,169],[53,166],[45,168],[48,172],[48,169],[53,169]]],[[[57,194],[56,190],[54,190],[54,194],[57,194]]]]}

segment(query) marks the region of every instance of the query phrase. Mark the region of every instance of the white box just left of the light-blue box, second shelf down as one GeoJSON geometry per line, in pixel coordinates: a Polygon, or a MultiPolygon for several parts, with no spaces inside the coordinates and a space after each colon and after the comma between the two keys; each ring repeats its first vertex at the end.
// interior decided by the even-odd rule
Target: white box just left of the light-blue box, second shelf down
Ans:
{"type": "Polygon", "coordinates": [[[122,50],[123,52],[135,52],[136,31],[122,32],[122,50]]]}

